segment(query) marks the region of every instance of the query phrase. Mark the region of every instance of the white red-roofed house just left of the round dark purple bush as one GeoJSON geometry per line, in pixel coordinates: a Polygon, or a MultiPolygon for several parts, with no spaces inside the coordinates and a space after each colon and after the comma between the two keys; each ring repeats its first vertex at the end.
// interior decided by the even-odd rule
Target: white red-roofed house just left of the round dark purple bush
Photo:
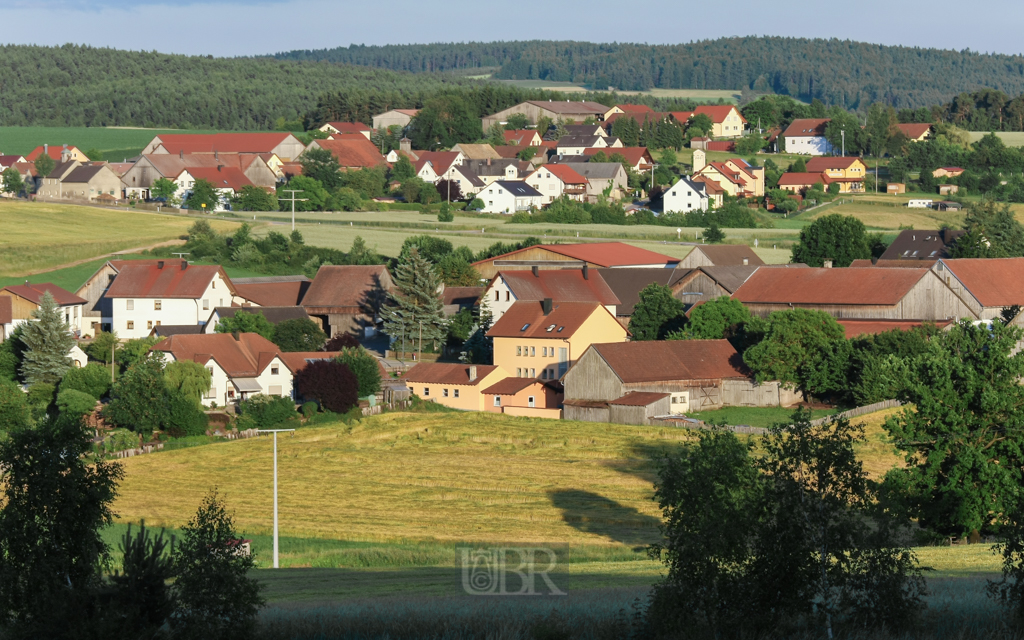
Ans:
{"type": "Polygon", "coordinates": [[[212,381],[203,402],[227,407],[262,393],[293,397],[294,372],[278,345],[259,334],[176,335],[161,340],[150,351],[165,362],[199,362],[212,381]]]}

